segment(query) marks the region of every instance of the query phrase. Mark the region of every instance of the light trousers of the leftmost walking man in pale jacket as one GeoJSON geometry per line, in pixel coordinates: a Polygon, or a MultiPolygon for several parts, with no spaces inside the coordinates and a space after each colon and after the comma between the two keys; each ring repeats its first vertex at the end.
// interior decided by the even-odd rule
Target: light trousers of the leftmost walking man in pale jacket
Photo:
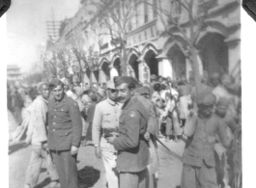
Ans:
{"type": "Polygon", "coordinates": [[[25,180],[26,184],[30,185],[31,187],[37,185],[43,159],[46,160],[46,168],[51,180],[59,179],[50,154],[46,152],[42,145],[32,145],[32,153],[25,180]]]}

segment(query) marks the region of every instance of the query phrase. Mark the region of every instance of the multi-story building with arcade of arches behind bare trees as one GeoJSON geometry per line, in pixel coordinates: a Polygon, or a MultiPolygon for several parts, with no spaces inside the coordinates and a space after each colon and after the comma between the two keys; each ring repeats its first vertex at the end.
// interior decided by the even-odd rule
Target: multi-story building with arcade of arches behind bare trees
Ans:
{"type": "MultiPolygon", "coordinates": [[[[122,0],[122,2],[125,1],[122,0]]],[[[127,25],[124,27],[125,35],[121,38],[113,37],[113,32],[120,29],[116,26],[117,21],[112,20],[113,27],[102,24],[106,19],[109,21],[112,18],[105,13],[110,9],[101,10],[105,13],[104,18],[99,14],[85,12],[86,6],[84,6],[75,17],[69,20],[62,34],[62,40],[69,42],[81,39],[82,36],[85,51],[89,50],[86,45],[95,44],[93,51],[98,53],[95,61],[97,66],[94,69],[87,68],[86,72],[91,74],[88,74],[89,78],[100,83],[122,73],[124,53],[120,51],[120,40],[126,42],[128,75],[135,76],[141,82],[149,81],[151,74],[170,76],[173,79],[185,75],[188,78],[192,69],[191,64],[179,43],[184,46],[187,43],[186,38],[190,37],[191,22],[189,22],[187,10],[179,2],[176,0],[128,1],[127,9],[128,6],[133,6],[133,11],[132,14],[128,14],[127,25]],[[86,22],[82,18],[83,13],[88,15],[84,16],[86,22]],[[168,16],[179,20],[185,35],[177,29],[172,29],[173,22],[169,21],[168,16]],[[76,32],[78,30],[79,32],[76,32]],[[99,45],[96,47],[96,44],[99,45]]],[[[189,3],[183,0],[181,2],[189,3]]],[[[198,51],[201,72],[205,70],[211,74],[226,71],[239,78],[241,71],[240,0],[194,2],[195,5],[192,8],[194,18],[200,18],[200,15],[207,10],[207,17],[204,19],[197,40],[193,43],[198,51]]],[[[120,5],[117,3],[112,8],[116,9],[117,13],[124,14],[123,9],[120,8],[118,11],[118,6],[120,5]]]]}

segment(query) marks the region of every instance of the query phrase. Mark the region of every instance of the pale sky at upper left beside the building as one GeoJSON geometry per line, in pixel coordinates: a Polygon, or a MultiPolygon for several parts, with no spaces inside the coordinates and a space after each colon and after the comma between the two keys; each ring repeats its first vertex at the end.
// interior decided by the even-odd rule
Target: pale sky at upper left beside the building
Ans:
{"type": "Polygon", "coordinates": [[[8,37],[8,64],[22,71],[29,70],[38,61],[37,49],[47,40],[45,21],[63,20],[73,16],[80,0],[12,0],[6,14],[8,37]]]}

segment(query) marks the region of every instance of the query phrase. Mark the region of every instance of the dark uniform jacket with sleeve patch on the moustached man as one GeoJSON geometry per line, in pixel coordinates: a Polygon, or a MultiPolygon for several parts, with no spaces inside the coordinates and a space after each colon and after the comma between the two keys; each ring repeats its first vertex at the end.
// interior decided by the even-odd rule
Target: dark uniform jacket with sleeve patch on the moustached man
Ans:
{"type": "Polygon", "coordinates": [[[144,134],[149,115],[144,105],[132,97],[123,106],[119,121],[119,137],[113,145],[118,150],[117,171],[141,172],[149,164],[149,148],[144,134]]]}

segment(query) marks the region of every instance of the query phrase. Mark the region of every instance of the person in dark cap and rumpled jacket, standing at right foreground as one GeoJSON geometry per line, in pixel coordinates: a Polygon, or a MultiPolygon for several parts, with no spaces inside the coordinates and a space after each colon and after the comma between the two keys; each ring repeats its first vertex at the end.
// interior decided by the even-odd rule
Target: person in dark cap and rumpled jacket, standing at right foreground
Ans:
{"type": "Polygon", "coordinates": [[[187,136],[183,156],[182,188],[217,188],[214,144],[216,135],[221,144],[228,148],[231,139],[226,124],[213,114],[215,96],[202,92],[197,96],[198,112],[191,113],[185,122],[187,136]]]}

